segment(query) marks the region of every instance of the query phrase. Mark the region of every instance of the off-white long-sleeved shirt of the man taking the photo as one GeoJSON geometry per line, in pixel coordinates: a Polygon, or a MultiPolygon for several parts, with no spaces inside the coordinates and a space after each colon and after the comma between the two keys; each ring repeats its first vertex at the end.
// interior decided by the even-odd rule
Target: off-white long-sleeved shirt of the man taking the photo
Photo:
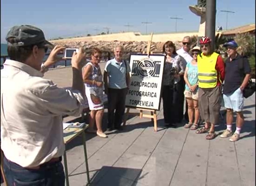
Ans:
{"type": "Polygon", "coordinates": [[[1,149],[22,167],[64,153],[62,115],[84,108],[79,91],[58,88],[31,66],[6,60],[1,70],[1,149]]]}

